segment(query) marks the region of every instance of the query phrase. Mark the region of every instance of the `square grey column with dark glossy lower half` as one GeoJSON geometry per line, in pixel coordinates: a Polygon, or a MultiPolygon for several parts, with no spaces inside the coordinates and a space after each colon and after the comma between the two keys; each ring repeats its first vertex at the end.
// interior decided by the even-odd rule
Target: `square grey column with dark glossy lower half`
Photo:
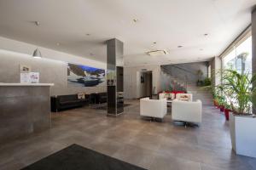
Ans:
{"type": "Polygon", "coordinates": [[[116,38],[107,41],[108,116],[124,111],[123,42],[116,38]]]}

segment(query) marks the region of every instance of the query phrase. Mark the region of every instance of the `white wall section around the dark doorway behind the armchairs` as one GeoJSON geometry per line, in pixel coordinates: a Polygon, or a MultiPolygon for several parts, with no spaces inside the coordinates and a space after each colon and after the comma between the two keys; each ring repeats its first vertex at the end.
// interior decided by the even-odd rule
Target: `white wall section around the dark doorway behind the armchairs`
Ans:
{"type": "Polygon", "coordinates": [[[152,84],[155,92],[160,92],[160,65],[124,67],[124,96],[125,99],[138,99],[141,93],[141,71],[152,71],[152,84]]]}

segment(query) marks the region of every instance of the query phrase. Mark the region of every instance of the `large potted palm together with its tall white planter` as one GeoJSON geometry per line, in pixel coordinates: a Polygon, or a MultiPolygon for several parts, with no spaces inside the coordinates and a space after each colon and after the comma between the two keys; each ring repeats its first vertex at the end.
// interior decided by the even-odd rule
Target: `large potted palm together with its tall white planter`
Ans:
{"type": "Polygon", "coordinates": [[[232,112],[230,112],[230,137],[233,150],[242,156],[256,157],[256,118],[252,113],[255,105],[256,76],[232,70],[222,71],[223,83],[218,86],[232,112]]]}

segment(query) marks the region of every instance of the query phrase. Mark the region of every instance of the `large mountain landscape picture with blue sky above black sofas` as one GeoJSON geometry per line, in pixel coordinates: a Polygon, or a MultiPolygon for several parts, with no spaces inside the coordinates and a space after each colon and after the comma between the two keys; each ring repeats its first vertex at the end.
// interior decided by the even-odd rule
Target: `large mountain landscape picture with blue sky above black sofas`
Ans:
{"type": "Polygon", "coordinates": [[[68,63],[67,82],[69,86],[77,87],[102,86],[105,82],[105,70],[68,63]]]}

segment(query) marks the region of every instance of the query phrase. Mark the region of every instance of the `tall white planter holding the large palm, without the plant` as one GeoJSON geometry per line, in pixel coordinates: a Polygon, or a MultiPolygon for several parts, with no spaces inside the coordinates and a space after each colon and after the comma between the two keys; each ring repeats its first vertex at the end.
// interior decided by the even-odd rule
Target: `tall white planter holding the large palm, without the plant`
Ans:
{"type": "Polygon", "coordinates": [[[230,137],[236,154],[256,157],[256,118],[230,112],[230,137]]]}

